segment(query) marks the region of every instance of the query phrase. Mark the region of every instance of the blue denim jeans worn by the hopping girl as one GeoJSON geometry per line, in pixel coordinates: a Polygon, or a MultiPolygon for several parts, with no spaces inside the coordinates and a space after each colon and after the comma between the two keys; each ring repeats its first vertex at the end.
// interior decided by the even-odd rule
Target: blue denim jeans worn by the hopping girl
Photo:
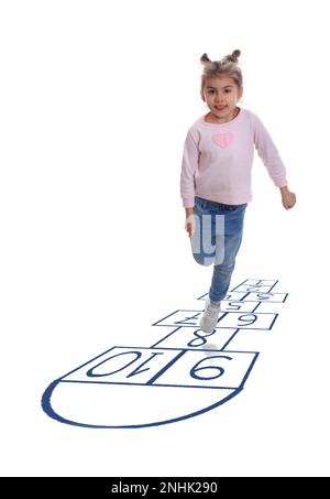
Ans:
{"type": "Polygon", "coordinates": [[[212,302],[220,302],[228,292],[242,242],[246,206],[223,205],[195,197],[196,230],[190,239],[191,249],[197,263],[215,264],[209,290],[212,302]]]}

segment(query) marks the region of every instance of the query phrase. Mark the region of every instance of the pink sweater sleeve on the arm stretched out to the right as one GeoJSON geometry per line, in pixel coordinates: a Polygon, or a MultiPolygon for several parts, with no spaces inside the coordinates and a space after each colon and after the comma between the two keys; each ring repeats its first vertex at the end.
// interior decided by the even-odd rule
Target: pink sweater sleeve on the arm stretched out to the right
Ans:
{"type": "Polygon", "coordinates": [[[286,169],[279,153],[268,131],[256,115],[254,115],[254,144],[276,187],[287,185],[286,169]]]}

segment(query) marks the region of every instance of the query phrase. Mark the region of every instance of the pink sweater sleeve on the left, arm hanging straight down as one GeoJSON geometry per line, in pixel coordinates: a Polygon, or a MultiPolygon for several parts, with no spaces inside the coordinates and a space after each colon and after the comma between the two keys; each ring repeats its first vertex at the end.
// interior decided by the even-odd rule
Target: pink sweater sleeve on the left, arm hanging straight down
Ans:
{"type": "Polygon", "coordinates": [[[185,208],[195,206],[195,174],[198,169],[199,149],[191,130],[188,131],[183,153],[180,195],[185,208]]]}

